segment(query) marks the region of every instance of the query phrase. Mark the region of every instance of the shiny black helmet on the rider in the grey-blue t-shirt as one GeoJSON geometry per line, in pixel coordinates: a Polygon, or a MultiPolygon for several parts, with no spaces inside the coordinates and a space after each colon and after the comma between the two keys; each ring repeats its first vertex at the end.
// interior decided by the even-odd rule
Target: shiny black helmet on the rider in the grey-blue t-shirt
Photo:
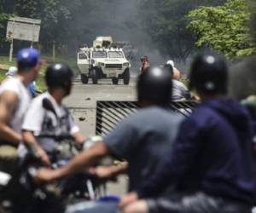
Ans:
{"type": "Polygon", "coordinates": [[[138,101],[167,105],[172,96],[172,75],[158,66],[148,67],[137,80],[138,101]]]}

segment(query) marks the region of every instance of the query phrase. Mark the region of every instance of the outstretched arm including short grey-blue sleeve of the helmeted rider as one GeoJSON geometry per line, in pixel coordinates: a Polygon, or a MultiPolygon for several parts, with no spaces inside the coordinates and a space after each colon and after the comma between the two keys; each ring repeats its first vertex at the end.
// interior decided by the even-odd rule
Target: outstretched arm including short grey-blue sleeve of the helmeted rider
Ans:
{"type": "Polygon", "coordinates": [[[136,144],[135,141],[137,141],[137,130],[127,119],[129,120],[126,118],[102,141],[97,141],[90,148],[79,153],[69,164],[57,170],[40,170],[37,177],[38,181],[51,181],[84,170],[85,167],[95,164],[100,158],[110,153],[119,158],[129,156],[136,144]]]}

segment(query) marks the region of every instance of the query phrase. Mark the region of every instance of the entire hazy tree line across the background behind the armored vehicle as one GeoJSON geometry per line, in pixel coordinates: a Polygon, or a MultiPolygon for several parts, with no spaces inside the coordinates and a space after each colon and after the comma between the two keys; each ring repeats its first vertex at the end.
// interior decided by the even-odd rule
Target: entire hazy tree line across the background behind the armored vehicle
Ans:
{"type": "Polygon", "coordinates": [[[195,44],[230,57],[250,55],[254,49],[245,1],[255,7],[255,0],[0,0],[0,37],[5,37],[7,14],[16,14],[42,20],[44,52],[55,41],[62,54],[74,55],[80,44],[110,35],[131,41],[137,49],[146,47],[144,54],[158,49],[174,60],[197,51],[195,44]]]}

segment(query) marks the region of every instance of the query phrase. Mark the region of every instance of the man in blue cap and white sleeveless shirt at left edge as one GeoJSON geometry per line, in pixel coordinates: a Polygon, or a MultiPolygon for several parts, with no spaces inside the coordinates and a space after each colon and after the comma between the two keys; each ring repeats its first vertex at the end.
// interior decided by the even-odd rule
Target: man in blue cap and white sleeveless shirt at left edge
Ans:
{"type": "MultiPolygon", "coordinates": [[[[42,66],[37,49],[21,49],[17,55],[18,72],[14,78],[3,82],[0,88],[0,157],[16,152],[22,141],[21,124],[31,101],[27,90],[42,66]],[[7,151],[8,150],[8,151],[7,151]]],[[[2,161],[1,161],[2,162],[2,161]]],[[[3,164],[9,169],[7,164],[3,164]]],[[[0,170],[4,170],[0,166],[0,170]]]]}

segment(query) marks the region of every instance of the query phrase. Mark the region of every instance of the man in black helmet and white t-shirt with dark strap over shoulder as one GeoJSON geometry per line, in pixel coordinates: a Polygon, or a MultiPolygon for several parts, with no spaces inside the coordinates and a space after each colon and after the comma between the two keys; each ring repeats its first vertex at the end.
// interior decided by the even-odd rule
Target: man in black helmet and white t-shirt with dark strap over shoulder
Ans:
{"type": "Polygon", "coordinates": [[[67,107],[62,105],[63,99],[70,95],[72,80],[73,72],[67,65],[49,66],[45,72],[48,92],[32,101],[22,124],[24,141],[37,150],[45,164],[60,151],[62,140],[73,137],[78,144],[85,140],[67,107]]]}

